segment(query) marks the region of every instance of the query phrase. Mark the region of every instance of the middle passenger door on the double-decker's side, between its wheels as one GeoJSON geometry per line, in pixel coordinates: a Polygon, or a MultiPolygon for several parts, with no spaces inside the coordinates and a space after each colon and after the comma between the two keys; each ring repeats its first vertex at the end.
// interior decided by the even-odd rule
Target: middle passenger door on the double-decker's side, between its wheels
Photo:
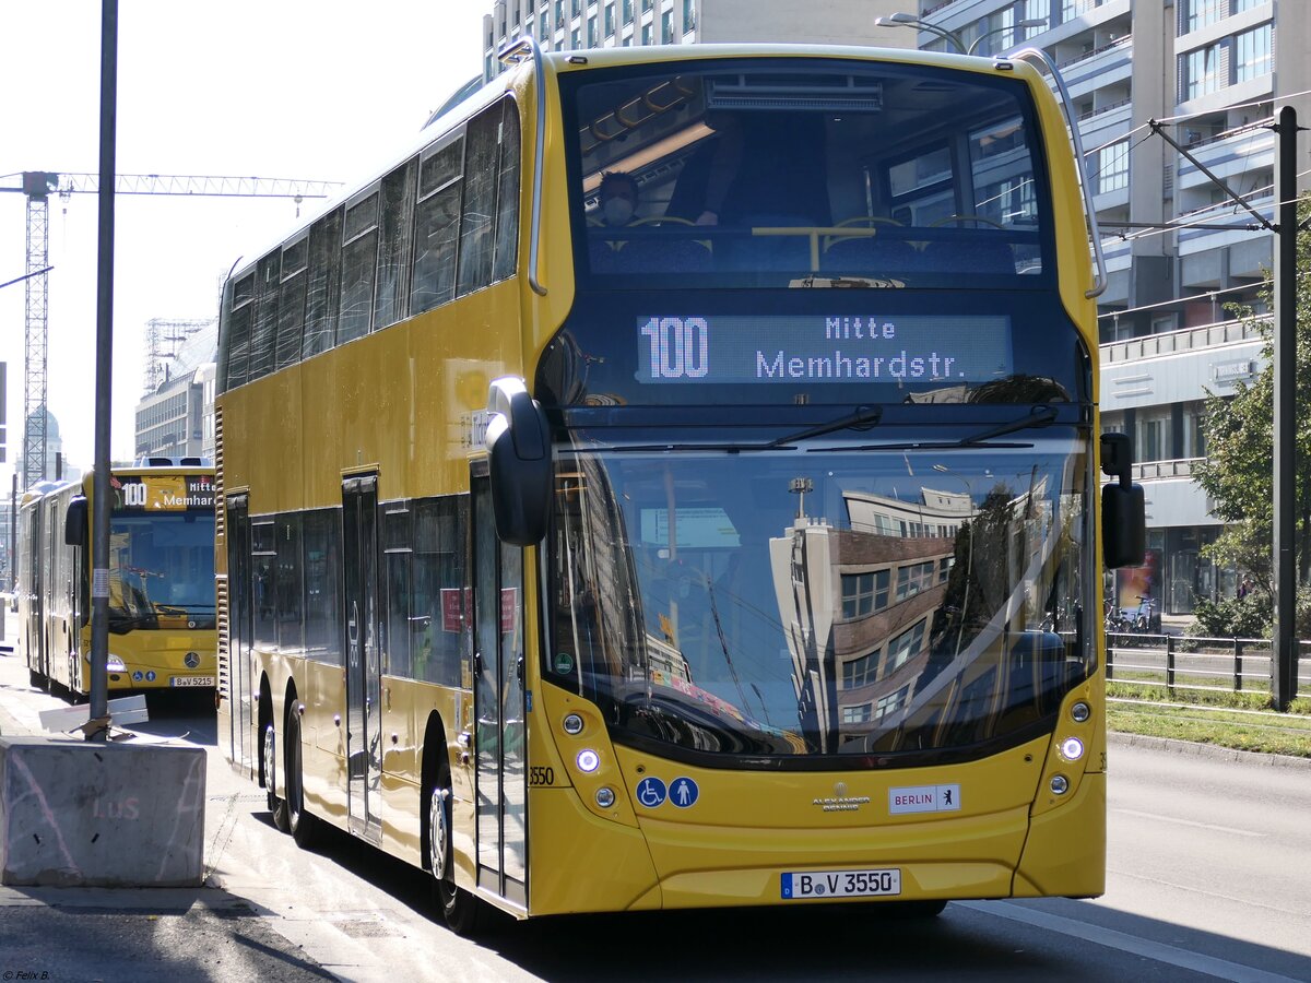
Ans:
{"type": "Polygon", "coordinates": [[[383,836],[374,801],[382,788],[380,625],[378,606],[378,476],[342,482],[342,562],[346,587],[346,760],[350,831],[383,836]]]}

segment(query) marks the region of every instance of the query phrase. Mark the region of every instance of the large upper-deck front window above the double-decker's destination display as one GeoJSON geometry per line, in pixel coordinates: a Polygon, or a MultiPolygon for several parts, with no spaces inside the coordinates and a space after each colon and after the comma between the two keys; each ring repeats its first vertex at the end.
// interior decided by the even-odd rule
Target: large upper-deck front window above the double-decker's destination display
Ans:
{"type": "Polygon", "coordinates": [[[1011,76],[688,60],[561,87],[582,286],[1051,283],[1033,106],[1011,76]]]}

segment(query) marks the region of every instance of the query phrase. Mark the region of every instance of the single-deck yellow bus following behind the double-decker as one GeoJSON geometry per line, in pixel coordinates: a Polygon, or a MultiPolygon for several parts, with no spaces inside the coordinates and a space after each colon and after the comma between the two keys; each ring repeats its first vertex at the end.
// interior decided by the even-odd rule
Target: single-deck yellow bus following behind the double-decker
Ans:
{"type": "MultiPolygon", "coordinates": [[[[108,687],[215,684],[214,465],[115,467],[109,505],[108,687]]],[[[43,482],[18,510],[18,625],[31,684],[90,692],[94,476],[43,482]]]]}

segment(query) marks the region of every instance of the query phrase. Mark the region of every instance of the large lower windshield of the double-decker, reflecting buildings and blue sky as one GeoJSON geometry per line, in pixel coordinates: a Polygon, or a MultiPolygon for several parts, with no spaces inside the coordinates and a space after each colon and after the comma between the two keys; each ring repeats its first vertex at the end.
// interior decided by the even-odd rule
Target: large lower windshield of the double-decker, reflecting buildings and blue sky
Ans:
{"type": "Polygon", "coordinates": [[[924,763],[1028,739],[1092,670],[1082,430],[888,453],[572,436],[544,668],[616,741],[924,763]]]}

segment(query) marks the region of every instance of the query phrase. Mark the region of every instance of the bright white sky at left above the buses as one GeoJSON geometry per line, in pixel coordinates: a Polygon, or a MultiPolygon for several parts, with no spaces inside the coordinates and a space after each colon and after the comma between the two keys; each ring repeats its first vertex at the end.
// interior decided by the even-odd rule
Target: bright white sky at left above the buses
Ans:
{"type": "MultiPolygon", "coordinates": [[[[93,0],[7,3],[0,186],[100,169],[93,0]]],[[[481,66],[485,0],[119,0],[119,174],[347,181],[382,170],[481,66]]],[[[302,219],[316,210],[302,206],[302,219]]],[[[299,225],[288,199],[121,195],[110,451],[134,455],[146,322],[218,312],[222,280],[299,225]]],[[[0,193],[0,283],[26,273],[26,199],[0,193]]],[[[97,198],[50,199],[49,395],[66,457],[94,456],[97,198]]],[[[0,290],[9,488],[24,433],[25,290],[0,290]]]]}

